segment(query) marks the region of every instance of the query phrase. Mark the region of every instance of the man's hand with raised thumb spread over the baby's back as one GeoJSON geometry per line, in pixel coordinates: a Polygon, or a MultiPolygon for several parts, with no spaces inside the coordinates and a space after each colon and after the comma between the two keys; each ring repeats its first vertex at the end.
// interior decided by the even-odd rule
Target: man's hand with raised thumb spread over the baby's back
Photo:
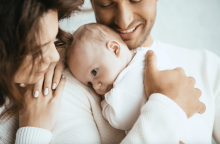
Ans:
{"type": "Polygon", "coordinates": [[[206,110],[205,104],[199,100],[201,91],[194,87],[195,83],[195,79],[187,77],[182,68],[159,71],[155,53],[151,50],[146,53],[144,85],[148,98],[153,93],[161,93],[176,102],[190,118],[206,110]]]}

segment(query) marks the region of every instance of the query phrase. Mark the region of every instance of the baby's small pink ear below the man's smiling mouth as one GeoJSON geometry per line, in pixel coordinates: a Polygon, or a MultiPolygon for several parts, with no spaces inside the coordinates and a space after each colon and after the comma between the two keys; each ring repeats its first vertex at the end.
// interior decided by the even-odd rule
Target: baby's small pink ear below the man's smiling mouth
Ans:
{"type": "Polygon", "coordinates": [[[109,51],[113,52],[117,57],[120,56],[121,47],[119,42],[115,40],[110,40],[107,42],[106,47],[109,51]]]}

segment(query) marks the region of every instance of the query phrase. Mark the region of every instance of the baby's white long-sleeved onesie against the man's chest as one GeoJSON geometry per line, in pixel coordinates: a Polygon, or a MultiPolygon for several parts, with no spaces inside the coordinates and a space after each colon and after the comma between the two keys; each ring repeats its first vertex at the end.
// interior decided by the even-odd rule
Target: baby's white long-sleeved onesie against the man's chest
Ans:
{"type": "Polygon", "coordinates": [[[147,102],[144,90],[145,54],[153,50],[157,55],[159,70],[169,69],[169,59],[165,52],[141,47],[129,65],[119,74],[111,91],[105,94],[101,102],[104,118],[116,129],[130,130],[138,119],[142,106],[147,102]]]}

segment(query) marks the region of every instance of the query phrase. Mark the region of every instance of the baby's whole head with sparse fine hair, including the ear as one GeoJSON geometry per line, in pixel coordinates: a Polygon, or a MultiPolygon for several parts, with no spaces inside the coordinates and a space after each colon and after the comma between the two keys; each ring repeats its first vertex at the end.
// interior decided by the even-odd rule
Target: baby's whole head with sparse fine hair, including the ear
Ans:
{"type": "Polygon", "coordinates": [[[91,23],[73,34],[66,61],[73,75],[83,84],[104,95],[113,87],[131,57],[121,37],[107,26],[91,23]]]}

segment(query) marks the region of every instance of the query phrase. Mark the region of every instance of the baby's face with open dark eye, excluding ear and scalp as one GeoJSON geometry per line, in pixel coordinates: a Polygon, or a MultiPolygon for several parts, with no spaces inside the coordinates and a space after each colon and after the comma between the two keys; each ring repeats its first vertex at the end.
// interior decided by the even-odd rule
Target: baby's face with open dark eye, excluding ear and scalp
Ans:
{"type": "Polygon", "coordinates": [[[119,73],[125,68],[117,52],[108,48],[92,48],[90,43],[76,43],[70,54],[69,68],[83,84],[104,95],[113,88],[119,73]]]}

